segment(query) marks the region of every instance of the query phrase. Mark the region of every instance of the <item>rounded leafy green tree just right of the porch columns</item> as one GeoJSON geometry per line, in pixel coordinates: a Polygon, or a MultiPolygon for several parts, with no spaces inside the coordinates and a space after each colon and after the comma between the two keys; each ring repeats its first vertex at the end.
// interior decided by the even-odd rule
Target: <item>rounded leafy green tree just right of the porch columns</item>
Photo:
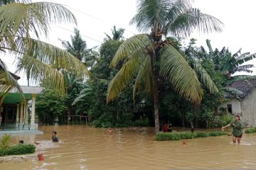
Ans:
{"type": "Polygon", "coordinates": [[[40,123],[53,124],[55,118],[67,111],[65,98],[58,91],[46,90],[36,100],[36,113],[40,123]]]}

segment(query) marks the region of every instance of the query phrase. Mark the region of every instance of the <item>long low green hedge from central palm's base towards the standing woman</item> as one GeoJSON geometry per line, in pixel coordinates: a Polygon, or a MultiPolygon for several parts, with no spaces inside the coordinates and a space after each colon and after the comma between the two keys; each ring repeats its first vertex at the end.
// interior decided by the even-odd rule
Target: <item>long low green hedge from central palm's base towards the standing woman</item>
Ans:
{"type": "Polygon", "coordinates": [[[193,139],[196,137],[209,137],[209,136],[223,136],[228,135],[227,132],[159,132],[155,140],[185,140],[193,139]]]}

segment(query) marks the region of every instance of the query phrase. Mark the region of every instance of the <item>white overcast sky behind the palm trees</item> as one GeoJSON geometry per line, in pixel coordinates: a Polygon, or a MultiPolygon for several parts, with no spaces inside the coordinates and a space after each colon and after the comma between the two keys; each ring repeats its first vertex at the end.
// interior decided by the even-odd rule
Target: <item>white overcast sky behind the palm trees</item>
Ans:
{"type": "MultiPolygon", "coordinates": [[[[66,24],[51,26],[48,39],[44,40],[58,47],[62,47],[58,39],[70,40],[74,27],[80,30],[88,48],[99,46],[105,38],[105,33],[111,35],[113,26],[125,29],[124,38],[138,33],[134,26],[129,26],[129,21],[136,13],[136,0],[51,1],[65,5],[78,20],[78,26],[66,24]]],[[[210,39],[214,49],[225,46],[234,53],[242,47],[242,52],[256,52],[255,0],[194,0],[193,4],[203,13],[215,16],[225,24],[222,33],[200,35],[194,32],[191,38],[198,40],[196,45],[206,46],[206,39],[210,39]]],[[[1,58],[7,62],[11,72],[15,72],[13,60],[6,56],[1,58]]],[[[26,85],[26,81],[22,78],[19,83],[26,85]]]]}

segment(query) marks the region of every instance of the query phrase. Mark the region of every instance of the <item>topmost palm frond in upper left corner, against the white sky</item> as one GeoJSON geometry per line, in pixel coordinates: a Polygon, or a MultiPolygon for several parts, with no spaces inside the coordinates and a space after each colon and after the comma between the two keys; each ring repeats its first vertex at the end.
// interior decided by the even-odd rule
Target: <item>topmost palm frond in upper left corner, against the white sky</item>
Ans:
{"type": "Polygon", "coordinates": [[[0,6],[1,35],[47,35],[50,23],[77,23],[67,8],[51,2],[11,3],[0,6]]]}

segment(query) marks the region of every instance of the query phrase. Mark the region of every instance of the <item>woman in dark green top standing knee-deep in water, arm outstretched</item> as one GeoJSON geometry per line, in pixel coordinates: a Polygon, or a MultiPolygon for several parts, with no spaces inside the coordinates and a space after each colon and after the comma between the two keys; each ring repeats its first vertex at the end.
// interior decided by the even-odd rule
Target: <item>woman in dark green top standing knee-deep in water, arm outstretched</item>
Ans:
{"type": "Polygon", "coordinates": [[[229,126],[233,126],[233,142],[236,143],[236,141],[238,140],[238,143],[240,144],[241,139],[242,139],[242,122],[240,120],[240,116],[239,115],[235,115],[235,121],[233,121],[233,123],[230,123],[228,125],[225,125],[222,127],[222,130],[224,130],[225,128],[228,128],[229,126]]]}

